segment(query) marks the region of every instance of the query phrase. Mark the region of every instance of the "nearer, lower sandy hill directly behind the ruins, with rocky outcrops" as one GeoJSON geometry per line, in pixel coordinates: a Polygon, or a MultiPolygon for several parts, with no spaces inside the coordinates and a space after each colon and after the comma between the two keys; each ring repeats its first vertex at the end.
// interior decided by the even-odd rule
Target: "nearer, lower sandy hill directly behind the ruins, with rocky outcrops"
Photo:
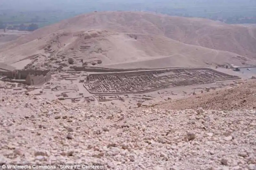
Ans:
{"type": "Polygon", "coordinates": [[[113,68],[159,68],[207,66],[212,64],[256,64],[237,54],[184,44],[155,34],[128,34],[108,30],[59,31],[51,36],[16,46],[5,51],[5,63],[30,59],[39,53],[41,62],[52,56],[79,61],[102,60],[102,66],[113,68]],[[27,57],[26,57],[27,56],[27,57]],[[31,56],[31,57],[30,57],[31,56]]]}

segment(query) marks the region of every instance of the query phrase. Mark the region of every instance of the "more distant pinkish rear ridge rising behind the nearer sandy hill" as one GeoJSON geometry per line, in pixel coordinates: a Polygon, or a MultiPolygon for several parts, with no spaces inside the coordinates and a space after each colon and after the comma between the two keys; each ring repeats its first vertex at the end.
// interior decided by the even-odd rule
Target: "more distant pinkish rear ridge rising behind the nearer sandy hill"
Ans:
{"type": "Polygon", "coordinates": [[[164,35],[187,44],[256,57],[256,28],[202,18],[171,17],[146,12],[96,12],[80,15],[54,28],[110,28],[117,32],[164,35]]]}

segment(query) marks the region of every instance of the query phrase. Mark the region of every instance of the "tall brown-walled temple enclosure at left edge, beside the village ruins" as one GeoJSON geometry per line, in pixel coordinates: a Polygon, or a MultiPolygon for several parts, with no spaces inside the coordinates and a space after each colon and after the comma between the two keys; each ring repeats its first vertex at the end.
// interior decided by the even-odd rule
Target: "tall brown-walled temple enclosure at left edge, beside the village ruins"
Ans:
{"type": "Polygon", "coordinates": [[[41,85],[51,80],[49,70],[13,70],[0,71],[3,81],[20,82],[27,85],[41,85]]]}

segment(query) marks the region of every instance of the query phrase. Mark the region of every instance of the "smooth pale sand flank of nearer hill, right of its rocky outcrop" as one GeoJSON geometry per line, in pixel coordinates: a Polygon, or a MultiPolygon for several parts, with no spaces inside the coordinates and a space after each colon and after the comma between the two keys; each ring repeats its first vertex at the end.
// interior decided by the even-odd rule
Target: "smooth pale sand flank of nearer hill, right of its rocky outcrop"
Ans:
{"type": "MultiPolygon", "coordinates": [[[[138,39],[134,41],[136,49],[143,51],[147,57],[137,57],[132,62],[123,60],[117,64],[107,64],[106,67],[196,67],[207,66],[209,63],[241,65],[242,62],[256,64],[255,61],[242,56],[239,58],[237,54],[231,52],[188,45],[163,36],[148,36],[147,34],[138,34],[137,36],[138,39]]],[[[122,56],[124,57],[124,55],[122,56]]]]}

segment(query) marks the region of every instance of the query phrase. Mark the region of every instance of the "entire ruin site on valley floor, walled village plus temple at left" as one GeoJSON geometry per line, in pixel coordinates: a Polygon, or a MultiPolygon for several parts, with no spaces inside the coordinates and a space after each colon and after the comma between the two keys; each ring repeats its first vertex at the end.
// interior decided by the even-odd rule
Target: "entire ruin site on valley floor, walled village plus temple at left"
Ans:
{"type": "MultiPolygon", "coordinates": [[[[133,103],[144,103],[152,99],[162,98],[162,94],[176,96],[194,95],[187,89],[173,92],[173,88],[186,86],[196,87],[201,93],[209,92],[220,86],[227,86],[216,82],[233,81],[241,79],[239,76],[219,72],[209,67],[182,67],[159,69],[110,69],[104,67],[78,67],[70,66],[66,70],[50,69],[24,69],[17,70],[4,65],[0,70],[2,81],[7,84],[0,86],[27,94],[40,95],[65,100],[73,103],[122,102],[126,106],[133,103]],[[215,87],[203,87],[216,83],[215,87]],[[205,85],[204,85],[205,84],[205,85]],[[162,91],[164,92],[162,92],[162,91]],[[152,93],[157,93],[156,96],[152,93]]],[[[199,92],[197,92],[199,93],[199,92]]],[[[169,100],[169,96],[167,99],[169,100]]],[[[147,102],[146,102],[147,103],[147,102]]]]}

